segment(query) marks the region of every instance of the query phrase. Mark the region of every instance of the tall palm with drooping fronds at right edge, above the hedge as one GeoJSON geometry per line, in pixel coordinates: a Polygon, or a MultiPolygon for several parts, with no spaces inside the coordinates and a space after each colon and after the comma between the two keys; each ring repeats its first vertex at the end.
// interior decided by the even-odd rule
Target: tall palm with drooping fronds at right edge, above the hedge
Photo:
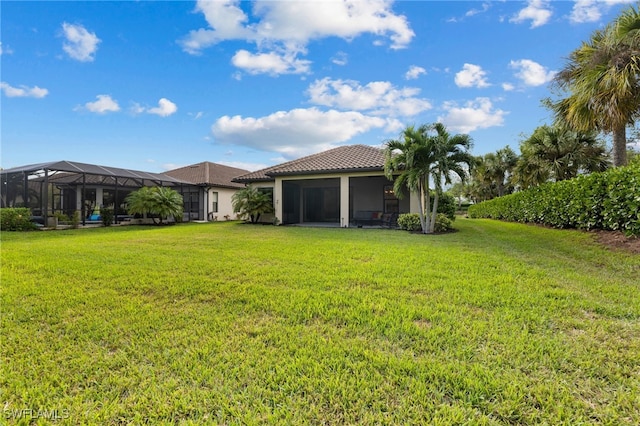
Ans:
{"type": "Polygon", "coordinates": [[[626,126],[640,116],[640,13],[630,7],[573,51],[556,76],[569,96],[549,105],[576,130],[613,133],[613,164],[626,164],[626,126]]]}

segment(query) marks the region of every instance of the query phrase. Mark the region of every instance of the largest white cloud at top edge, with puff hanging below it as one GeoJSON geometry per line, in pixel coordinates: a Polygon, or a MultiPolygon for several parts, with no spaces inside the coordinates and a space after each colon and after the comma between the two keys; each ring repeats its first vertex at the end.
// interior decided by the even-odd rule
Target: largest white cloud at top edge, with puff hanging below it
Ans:
{"type": "MultiPolygon", "coordinates": [[[[392,49],[400,49],[407,47],[414,36],[407,19],[393,13],[390,0],[258,0],[251,4],[251,16],[242,5],[248,3],[198,0],[196,12],[204,14],[209,27],[191,31],[180,40],[184,51],[200,54],[225,40],[244,40],[255,43],[257,52],[237,52],[234,64],[245,63],[245,69],[254,74],[275,74],[281,69],[301,73],[308,72],[310,62],[296,57],[306,54],[306,45],[311,40],[326,37],[351,40],[362,34],[374,34],[380,37],[374,44],[381,38],[388,39],[392,49]],[[273,51],[278,53],[269,53],[273,51]],[[283,67],[285,64],[288,66],[283,67]]],[[[343,62],[339,57],[337,61],[343,62]]]]}

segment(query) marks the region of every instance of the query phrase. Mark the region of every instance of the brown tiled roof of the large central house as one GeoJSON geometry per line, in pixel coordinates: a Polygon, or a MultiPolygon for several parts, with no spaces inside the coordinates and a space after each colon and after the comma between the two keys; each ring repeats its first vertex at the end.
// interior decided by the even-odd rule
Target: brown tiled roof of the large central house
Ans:
{"type": "Polygon", "coordinates": [[[384,150],[368,145],[347,145],[238,176],[235,182],[271,181],[276,176],[348,173],[384,170],[384,150]]]}

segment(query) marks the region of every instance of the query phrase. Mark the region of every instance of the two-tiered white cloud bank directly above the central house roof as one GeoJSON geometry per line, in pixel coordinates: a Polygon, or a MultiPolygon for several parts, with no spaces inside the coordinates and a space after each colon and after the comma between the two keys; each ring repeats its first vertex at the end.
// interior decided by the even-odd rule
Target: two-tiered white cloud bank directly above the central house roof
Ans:
{"type": "Polygon", "coordinates": [[[397,132],[411,117],[431,109],[416,88],[387,81],[361,85],[353,80],[323,78],[309,85],[310,108],[278,111],[263,117],[224,116],[211,127],[222,144],[276,152],[285,159],[333,148],[371,130],[397,132]],[[320,107],[327,107],[324,111],[320,107]]]}

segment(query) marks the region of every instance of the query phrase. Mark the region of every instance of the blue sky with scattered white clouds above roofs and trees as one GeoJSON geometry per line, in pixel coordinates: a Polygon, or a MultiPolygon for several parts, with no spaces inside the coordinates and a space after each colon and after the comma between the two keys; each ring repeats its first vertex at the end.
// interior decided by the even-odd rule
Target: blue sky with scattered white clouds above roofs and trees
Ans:
{"type": "Polygon", "coordinates": [[[0,166],[256,170],[436,121],[517,150],[625,3],[2,1],[0,166]]]}

